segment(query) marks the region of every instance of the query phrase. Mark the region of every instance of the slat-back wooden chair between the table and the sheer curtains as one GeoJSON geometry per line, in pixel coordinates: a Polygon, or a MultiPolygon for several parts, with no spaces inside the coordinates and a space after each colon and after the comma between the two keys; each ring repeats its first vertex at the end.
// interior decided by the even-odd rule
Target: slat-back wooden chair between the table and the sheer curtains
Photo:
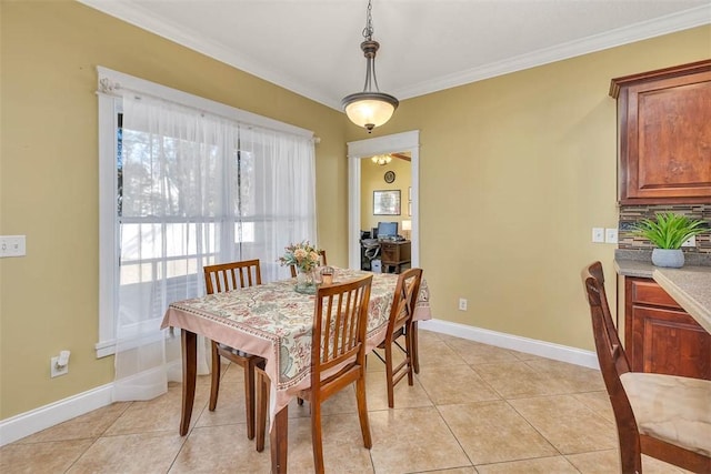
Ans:
{"type": "MultiPolygon", "coordinates": [[[[208,294],[253,286],[262,283],[259,260],[244,260],[241,262],[223,263],[204,266],[204,285],[208,294]]],[[[220,356],[234,362],[244,371],[244,405],[247,412],[247,437],[254,438],[254,367],[264,364],[264,359],[248,354],[224,344],[210,342],[212,352],[212,376],[210,384],[211,412],[218,404],[220,392],[220,356]]]]}

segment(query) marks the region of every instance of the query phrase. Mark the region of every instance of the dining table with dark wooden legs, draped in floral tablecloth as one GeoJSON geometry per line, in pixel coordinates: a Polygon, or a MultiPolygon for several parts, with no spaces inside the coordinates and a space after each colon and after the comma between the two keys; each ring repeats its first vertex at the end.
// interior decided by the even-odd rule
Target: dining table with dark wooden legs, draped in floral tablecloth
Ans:
{"type": "MultiPolygon", "coordinates": [[[[373,275],[365,335],[365,351],[370,352],[384,341],[399,275],[334,269],[333,283],[367,274],[373,275]]],[[[269,435],[272,473],[287,472],[289,402],[299,391],[310,386],[316,296],[294,291],[294,283],[296,279],[280,280],[173,302],[161,324],[163,329],[181,330],[181,435],[188,433],[192,415],[198,335],[266,360],[264,372],[271,383],[269,435]]],[[[414,322],[432,317],[429,300],[429,288],[423,279],[413,311],[414,322]]],[[[417,340],[417,330],[413,339],[417,340]]],[[[413,359],[413,367],[419,371],[417,357],[413,359]]]]}

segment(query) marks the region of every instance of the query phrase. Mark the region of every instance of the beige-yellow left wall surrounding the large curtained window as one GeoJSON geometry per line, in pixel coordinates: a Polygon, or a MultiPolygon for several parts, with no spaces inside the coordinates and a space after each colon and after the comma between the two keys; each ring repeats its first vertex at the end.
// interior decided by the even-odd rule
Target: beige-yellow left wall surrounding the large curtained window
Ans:
{"type": "Polygon", "coordinates": [[[319,243],[334,264],[348,262],[340,112],[80,3],[0,4],[0,232],[27,235],[27,256],[0,260],[0,418],[113,380],[113,357],[94,353],[97,65],[313,130],[317,211],[330,216],[319,243]],[[50,379],[62,349],[69,374],[50,379]]]}

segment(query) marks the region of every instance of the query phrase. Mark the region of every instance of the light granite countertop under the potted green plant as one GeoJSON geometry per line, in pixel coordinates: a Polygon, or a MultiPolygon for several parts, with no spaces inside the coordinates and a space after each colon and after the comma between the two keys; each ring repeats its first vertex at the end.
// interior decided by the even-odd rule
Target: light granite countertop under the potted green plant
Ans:
{"type": "Polygon", "coordinates": [[[615,252],[614,266],[620,275],[653,279],[711,333],[711,266],[707,264],[704,255],[681,269],[654,266],[651,260],[645,260],[641,254],[631,255],[638,256],[637,260],[628,256],[628,253],[615,252]]]}

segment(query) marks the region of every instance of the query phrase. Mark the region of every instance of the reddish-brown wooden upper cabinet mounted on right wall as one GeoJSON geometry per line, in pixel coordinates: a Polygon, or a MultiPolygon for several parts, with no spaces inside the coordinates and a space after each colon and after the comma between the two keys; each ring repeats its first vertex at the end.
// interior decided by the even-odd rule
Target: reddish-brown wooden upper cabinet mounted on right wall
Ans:
{"type": "Polygon", "coordinates": [[[711,202],[711,60],[613,79],[620,204],[711,202]]]}

